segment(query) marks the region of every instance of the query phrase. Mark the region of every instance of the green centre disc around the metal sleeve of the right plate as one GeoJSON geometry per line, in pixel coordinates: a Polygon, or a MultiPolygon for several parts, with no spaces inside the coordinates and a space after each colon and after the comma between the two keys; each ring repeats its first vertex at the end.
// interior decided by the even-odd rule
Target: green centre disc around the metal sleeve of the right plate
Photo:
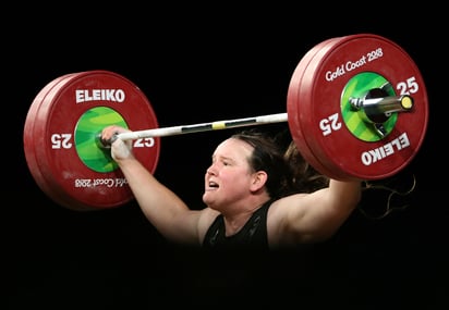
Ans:
{"type": "MultiPolygon", "coordinates": [[[[345,85],[341,97],[341,113],[348,129],[363,141],[378,141],[393,129],[398,120],[398,113],[391,113],[383,123],[385,136],[380,136],[373,123],[361,117],[360,111],[355,111],[350,103],[350,98],[364,98],[372,89],[383,89],[387,96],[396,96],[392,87],[385,87],[390,83],[381,75],[374,72],[363,72],[354,75],[345,85]]],[[[363,109],[363,108],[362,108],[363,109]]]]}

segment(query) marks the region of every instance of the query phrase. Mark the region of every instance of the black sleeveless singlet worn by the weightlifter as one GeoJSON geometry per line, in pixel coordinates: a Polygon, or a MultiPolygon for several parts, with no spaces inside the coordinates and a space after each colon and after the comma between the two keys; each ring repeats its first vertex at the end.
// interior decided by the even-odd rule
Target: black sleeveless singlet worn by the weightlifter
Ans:
{"type": "Polygon", "coordinates": [[[223,215],[215,219],[203,241],[204,248],[258,248],[268,249],[267,213],[272,201],[265,202],[254,212],[243,228],[235,235],[226,236],[223,215]]]}

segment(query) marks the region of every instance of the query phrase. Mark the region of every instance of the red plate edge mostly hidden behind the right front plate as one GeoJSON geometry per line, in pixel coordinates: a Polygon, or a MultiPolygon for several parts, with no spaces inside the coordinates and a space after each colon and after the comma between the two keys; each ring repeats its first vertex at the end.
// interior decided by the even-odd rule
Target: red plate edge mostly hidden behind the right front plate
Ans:
{"type": "MultiPolygon", "coordinates": [[[[300,61],[295,67],[292,78],[290,79],[290,85],[287,95],[287,113],[290,133],[292,135],[293,141],[296,148],[304,157],[304,159],[312,164],[317,171],[325,175],[336,176],[336,172],[328,170],[328,166],[321,164],[319,158],[315,156],[313,150],[310,148],[306,137],[304,136],[304,131],[302,129],[302,124],[304,123],[304,117],[308,115],[303,111],[301,106],[301,96],[304,89],[301,88],[302,79],[307,78],[304,76],[307,66],[314,58],[320,57],[326,53],[329,49],[333,47],[341,38],[332,38],[325,40],[314,48],[312,48],[300,61]]],[[[307,133],[307,131],[305,131],[307,133]]],[[[338,175],[339,178],[344,177],[344,174],[338,175]]]]}

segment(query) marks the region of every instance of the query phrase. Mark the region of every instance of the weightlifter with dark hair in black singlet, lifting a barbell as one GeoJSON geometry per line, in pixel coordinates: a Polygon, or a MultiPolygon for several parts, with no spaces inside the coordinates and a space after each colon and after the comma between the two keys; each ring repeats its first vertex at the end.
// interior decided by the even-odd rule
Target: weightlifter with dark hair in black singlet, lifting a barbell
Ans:
{"type": "Polygon", "coordinates": [[[205,248],[276,249],[330,238],[356,208],[362,183],[318,174],[293,141],[282,149],[254,129],[233,134],[217,146],[205,173],[201,210],[190,209],[133,154],[132,141],[114,135],[111,157],[123,172],[145,216],[168,240],[205,248]]]}

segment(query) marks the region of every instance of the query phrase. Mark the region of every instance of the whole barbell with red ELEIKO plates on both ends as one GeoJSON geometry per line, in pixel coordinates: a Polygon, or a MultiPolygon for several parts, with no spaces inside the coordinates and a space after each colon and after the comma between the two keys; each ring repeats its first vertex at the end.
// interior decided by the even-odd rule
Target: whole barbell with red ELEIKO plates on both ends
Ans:
{"type": "Polygon", "coordinates": [[[102,210],[133,194],[101,129],[117,124],[133,140],[135,157],[151,173],[160,137],[287,122],[302,156],[319,172],[342,181],[397,174],[417,153],[428,122],[424,79],[410,55],[391,40],[357,34],[313,47],[295,67],[287,112],[159,127],[143,91],[104,70],[71,73],[48,83],[25,120],[24,151],[39,188],[62,207],[102,210]]]}

